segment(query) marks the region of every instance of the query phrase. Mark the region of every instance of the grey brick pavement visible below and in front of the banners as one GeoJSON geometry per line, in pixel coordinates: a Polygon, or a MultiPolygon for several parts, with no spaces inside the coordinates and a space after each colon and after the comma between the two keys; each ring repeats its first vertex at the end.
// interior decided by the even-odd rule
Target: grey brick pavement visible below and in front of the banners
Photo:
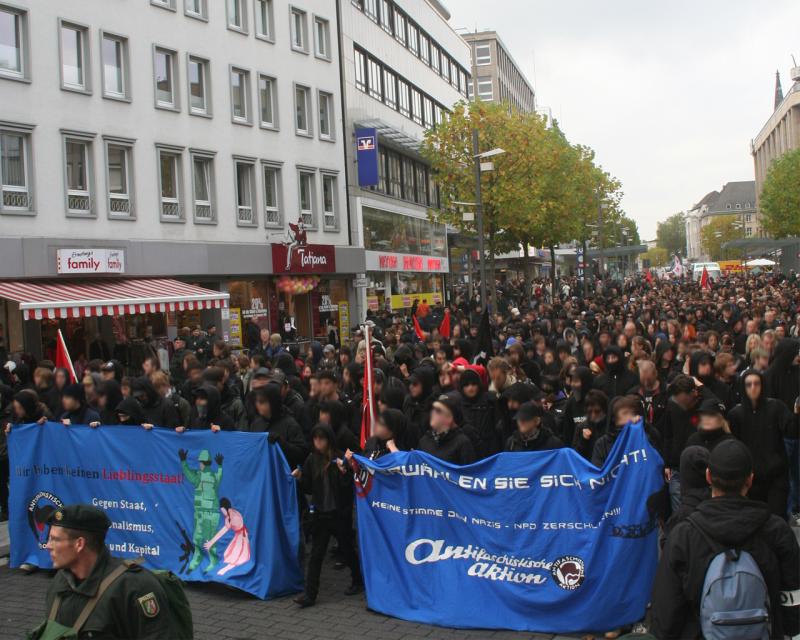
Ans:
{"type": "MultiPolygon", "coordinates": [[[[315,607],[298,609],[291,597],[263,602],[216,584],[190,584],[197,640],[335,640],[337,638],[497,638],[546,640],[551,635],[442,629],[368,611],[363,596],[343,594],[347,571],[326,562],[315,607]]],[[[18,640],[44,617],[49,572],[31,575],[0,567],[0,640],[18,640]]]]}

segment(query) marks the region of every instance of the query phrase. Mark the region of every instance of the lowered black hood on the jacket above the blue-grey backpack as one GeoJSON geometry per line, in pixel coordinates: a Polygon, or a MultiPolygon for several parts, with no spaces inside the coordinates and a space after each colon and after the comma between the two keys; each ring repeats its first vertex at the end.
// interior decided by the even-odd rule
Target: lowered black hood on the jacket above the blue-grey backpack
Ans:
{"type": "Polygon", "coordinates": [[[741,496],[705,500],[695,513],[703,530],[726,546],[739,546],[752,538],[771,515],[766,503],[741,496]]]}

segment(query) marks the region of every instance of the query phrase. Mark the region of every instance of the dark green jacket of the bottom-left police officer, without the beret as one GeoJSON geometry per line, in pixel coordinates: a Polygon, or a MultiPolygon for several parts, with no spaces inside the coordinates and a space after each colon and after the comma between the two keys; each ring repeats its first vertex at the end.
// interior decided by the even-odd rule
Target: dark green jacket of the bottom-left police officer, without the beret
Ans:
{"type": "MultiPolygon", "coordinates": [[[[56,622],[71,627],[87,601],[97,593],[103,578],[121,563],[122,560],[112,557],[104,549],[83,581],[76,580],[68,569],[60,570],[47,590],[45,611],[49,612],[56,595],[60,596],[56,622]]],[[[158,578],[146,569],[132,566],[108,587],[78,637],[170,640],[169,621],[169,601],[158,578]],[[139,600],[147,596],[155,598],[158,605],[158,611],[152,617],[145,613],[146,602],[139,600]]]]}

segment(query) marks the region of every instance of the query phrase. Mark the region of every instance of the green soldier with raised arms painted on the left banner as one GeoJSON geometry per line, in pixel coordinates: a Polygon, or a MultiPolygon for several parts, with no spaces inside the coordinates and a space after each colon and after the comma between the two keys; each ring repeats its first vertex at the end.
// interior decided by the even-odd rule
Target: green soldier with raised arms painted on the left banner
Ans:
{"type": "MultiPolygon", "coordinates": [[[[211,470],[211,454],[207,449],[203,449],[197,456],[199,463],[198,469],[192,469],[186,462],[189,452],[186,449],[178,450],[181,459],[183,475],[194,487],[194,531],[192,532],[192,542],[194,543],[194,553],[189,562],[188,570],[194,571],[203,561],[203,543],[211,540],[219,528],[219,500],[217,491],[222,482],[222,454],[214,456],[218,468],[214,472],[211,470]]],[[[209,573],[217,566],[217,553],[212,548],[208,550],[208,566],[205,572],[209,573]]]]}

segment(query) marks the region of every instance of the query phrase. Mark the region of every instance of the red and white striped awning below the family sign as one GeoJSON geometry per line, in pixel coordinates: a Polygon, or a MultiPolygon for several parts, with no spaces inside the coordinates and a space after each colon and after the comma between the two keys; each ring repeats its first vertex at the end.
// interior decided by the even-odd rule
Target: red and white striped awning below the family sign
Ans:
{"type": "Polygon", "coordinates": [[[229,295],[167,278],[0,282],[25,320],[221,309],[229,295]]]}

